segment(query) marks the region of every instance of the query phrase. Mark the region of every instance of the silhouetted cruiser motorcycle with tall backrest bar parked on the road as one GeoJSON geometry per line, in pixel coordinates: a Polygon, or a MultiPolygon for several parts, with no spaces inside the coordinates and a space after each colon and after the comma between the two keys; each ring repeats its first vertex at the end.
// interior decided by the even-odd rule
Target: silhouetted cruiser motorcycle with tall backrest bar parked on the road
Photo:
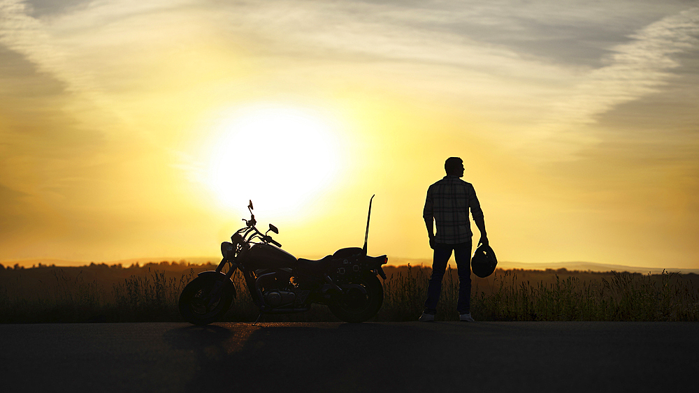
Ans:
{"type": "MultiPolygon", "coordinates": [[[[215,270],[201,272],[182,290],[182,318],[194,325],[219,320],[236,298],[233,274],[240,270],[255,306],[263,314],[309,311],[312,304],[325,304],[345,322],[364,322],[381,308],[384,290],[377,276],[386,279],[381,267],[386,255],[366,255],[371,202],[366,218],[364,246],[339,249],[319,260],[296,258],[281,249],[269,232],[279,234],[272,224],[263,234],[255,225],[252,200],[250,220],[221,244],[223,259],[215,270]]],[[[259,318],[258,318],[259,320],[259,318]]]]}

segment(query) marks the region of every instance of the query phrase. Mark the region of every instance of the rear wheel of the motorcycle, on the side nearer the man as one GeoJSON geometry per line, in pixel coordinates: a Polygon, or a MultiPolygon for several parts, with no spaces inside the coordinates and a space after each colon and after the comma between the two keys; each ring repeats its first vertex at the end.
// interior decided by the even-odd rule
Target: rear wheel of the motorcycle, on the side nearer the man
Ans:
{"type": "Polygon", "coordinates": [[[334,316],[349,323],[360,323],[369,320],[379,312],[384,302],[384,287],[377,276],[366,274],[350,284],[357,284],[366,290],[364,294],[359,288],[349,288],[344,295],[338,295],[328,304],[334,316]]]}

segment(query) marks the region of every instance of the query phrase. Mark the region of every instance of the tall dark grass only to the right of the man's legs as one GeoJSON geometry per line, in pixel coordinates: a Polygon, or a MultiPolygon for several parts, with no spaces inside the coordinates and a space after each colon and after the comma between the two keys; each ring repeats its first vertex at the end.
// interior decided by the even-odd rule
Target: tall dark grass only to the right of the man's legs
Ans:
{"type": "Polygon", "coordinates": [[[472,309],[483,320],[697,321],[699,292],[679,274],[651,276],[612,272],[611,279],[555,283],[517,281],[500,272],[491,294],[475,291],[472,309]]]}

